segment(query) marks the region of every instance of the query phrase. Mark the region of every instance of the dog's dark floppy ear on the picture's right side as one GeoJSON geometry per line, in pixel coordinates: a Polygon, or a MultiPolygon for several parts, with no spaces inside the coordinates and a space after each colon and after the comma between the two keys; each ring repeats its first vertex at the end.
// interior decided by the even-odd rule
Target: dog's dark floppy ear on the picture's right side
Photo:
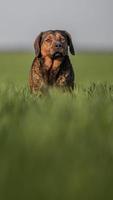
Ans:
{"type": "Polygon", "coordinates": [[[67,31],[63,31],[66,38],[67,38],[67,42],[68,42],[68,46],[69,46],[69,50],[71,52],[72,55],[75,55],[75,50],[74,50],[74,45],[72,42],[72,38],[71,35],[67,32],[67,31]]]}

